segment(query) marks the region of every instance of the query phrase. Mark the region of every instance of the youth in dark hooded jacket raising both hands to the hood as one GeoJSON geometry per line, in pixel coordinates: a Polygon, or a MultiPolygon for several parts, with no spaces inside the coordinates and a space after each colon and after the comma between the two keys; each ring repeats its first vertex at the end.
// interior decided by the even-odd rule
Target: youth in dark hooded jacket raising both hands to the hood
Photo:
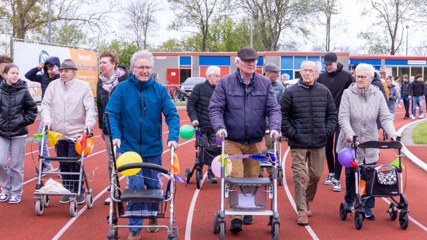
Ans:
{"type": "MultiPolygon", "coordinates": [[[[46,91],[47,86],[55,79],[59,78],[59,66],[61,66],[61,61],[57,57],[50,57],[45,62],[41,62],[37,67],[29,70],[25,74],[25,78],[29,81],[38,82],[41,84],[41,100],[43,100],[44,92],[46,91]],[[42,74],[37,74],[43,70],[42,74]]],[[[38,126],[38,133],[43,131],[43,121],[40,121],[38,126]]],[[[44,136],[44,144],[41,146],[41,139],[37,140],[38,151],[41,153],[41,148],[43,147],[43,156],[49,156],[49,150],[47,148],[47,135],[44,136]]],[[[44,162],[44,172],[53,171],[53,167],[50,161],[44,162]]],[[[44,175],[42,175],[44,176],[44,175]]]]}

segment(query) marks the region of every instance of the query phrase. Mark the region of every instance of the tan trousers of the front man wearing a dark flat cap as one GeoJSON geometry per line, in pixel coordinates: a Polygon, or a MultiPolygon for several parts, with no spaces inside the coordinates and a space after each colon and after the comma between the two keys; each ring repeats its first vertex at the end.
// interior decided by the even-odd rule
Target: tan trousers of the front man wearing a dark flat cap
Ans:
{"type": "MultiPolygon", "coordinates": [[[[253,155],[255,153],[261,153],[262,151],[262,142],[254,143],[251,145],[232,142],[225,140],[224,142],[224,152],[228,156],[237,156],[243,154],[253,155]]],[[[234,159],[231,160],[233,169],[229,176],[231,177],[258,177],[258,172],[260,171],[260,161],[254,160],[252,158],[244,159],[234,159]]],[[[230,198],[227,199],[227,205],[229,209],[240,210],[230,208],[230,198]]],[[[243,215],[230,215],[231,220],[239,218],[243,220],[243,215]]]]}

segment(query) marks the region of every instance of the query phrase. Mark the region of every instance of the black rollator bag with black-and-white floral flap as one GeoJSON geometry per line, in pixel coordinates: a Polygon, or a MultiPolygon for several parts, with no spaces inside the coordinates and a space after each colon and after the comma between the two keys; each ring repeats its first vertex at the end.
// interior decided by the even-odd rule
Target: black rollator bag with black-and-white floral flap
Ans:
{"type": "Polygon", "coordinates": [[[378,171],[365,168],[365,173],[366,194],[373,197],[399,196],[399,178],[396,169],[378,171]]]}

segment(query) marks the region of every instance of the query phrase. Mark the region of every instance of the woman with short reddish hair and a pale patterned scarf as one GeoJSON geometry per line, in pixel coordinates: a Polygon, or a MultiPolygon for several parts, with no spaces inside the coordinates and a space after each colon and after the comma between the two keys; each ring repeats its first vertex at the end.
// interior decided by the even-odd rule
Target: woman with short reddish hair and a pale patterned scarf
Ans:
{"type": "MultiPolygon", "coordinates": [[[[101,129],[101,138],[105,141],[105,147],[107,149],[108,180],[111,178],[113,156],[110,155],[112,150],[107,126],[104,124],[104,110],[117,84],[129,78],[128,68],[126,66],[119,66],[119,57],[120,56],[114,49],[104,50],[99,55],[99,69],[101,70],[101,74],[99,75],[97,83],[98,126],[101,129]]],[[[118,154],[116,157],[118,157],[118,154]]],[[[109,186],[108,191],[110,191],[109,186]]],[[[107,199],[104,201],[105,205],[110,204],[110,197],[111,196],[108,195],[107,199]]]]}

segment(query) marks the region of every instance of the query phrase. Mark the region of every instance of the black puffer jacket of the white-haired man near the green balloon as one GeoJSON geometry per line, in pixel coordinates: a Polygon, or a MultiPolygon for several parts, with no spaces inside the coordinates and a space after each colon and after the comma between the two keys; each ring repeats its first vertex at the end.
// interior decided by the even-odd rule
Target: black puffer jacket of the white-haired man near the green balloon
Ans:
{"type": "Polygon", "coordinates": [[[191,122],[198,120],[200,127],[212,126],[208,107],[214,89],[215,86],[206,80],[194,86],[190,97],[188,97],[187,114],[191,122]]]}

